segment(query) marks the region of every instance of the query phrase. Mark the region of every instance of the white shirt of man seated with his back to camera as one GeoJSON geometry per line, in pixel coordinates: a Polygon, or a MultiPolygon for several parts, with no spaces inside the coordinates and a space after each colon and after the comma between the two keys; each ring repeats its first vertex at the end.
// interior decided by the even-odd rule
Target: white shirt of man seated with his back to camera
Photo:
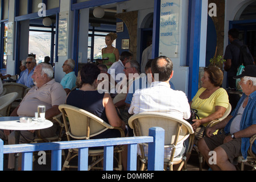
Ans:
{"type": "MultiPolygon", "coordinates": [[[[129,109],[130,114],[142,112],[170,113],[181,119],[188,119],[191,111],[184,92],[172,90],[166,82],[152,82],[150,88],[136,90],[129,109]]],[[[145,155],[147,147],[144,146],[145,155]]],[[[178,143],[175,156],[183,151],[183,143],[178,143]]],[[[164,158],[170,158],[171,148],[164,148],[164,158]]]]}

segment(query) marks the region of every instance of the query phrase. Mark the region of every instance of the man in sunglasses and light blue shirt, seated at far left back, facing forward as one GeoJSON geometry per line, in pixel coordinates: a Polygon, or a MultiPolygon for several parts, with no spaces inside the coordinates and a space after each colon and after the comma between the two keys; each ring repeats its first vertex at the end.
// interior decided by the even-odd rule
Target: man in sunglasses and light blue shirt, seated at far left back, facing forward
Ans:
{"type": "Polygon", "coordinates": [[[35,65],[36,65],[35,57],[33,56],[27,57],[26,59],[27,69],[25,69],[25,71],[19,77],[19,80],[17,82],[18,84],[26,85],[28,88],[31,88],[32,86],[34,86],[34,82],[31,76],[34,73],[35,65]]]}

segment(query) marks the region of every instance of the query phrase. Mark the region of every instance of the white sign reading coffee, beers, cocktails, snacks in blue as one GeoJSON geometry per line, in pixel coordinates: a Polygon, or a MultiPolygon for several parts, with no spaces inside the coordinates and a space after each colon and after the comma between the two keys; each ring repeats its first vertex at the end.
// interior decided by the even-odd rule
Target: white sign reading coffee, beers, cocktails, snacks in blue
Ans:
{"type": "Polygon", "coordinates": [[[159,56],[177,57],[180,0],[162,0],[160,5],[159,56]]]}

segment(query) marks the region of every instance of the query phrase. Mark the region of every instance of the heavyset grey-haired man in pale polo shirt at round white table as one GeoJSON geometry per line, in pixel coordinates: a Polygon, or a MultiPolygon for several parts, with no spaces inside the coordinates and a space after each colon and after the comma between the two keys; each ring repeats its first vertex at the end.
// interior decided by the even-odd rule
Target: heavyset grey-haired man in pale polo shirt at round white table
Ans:
{"type": "MultiPolygon", "coordinates": [[[[46,106],[46,119],[60,113],[59,105],[64,104],[67,98],[63,87],[53,78],[53,68],[46,63],[40,63],[34,70],[32,79],[35,86],[23,98],[20,105],[15,108],[11,116],[34,117],[38,105],[46,106]]],[[[42,137],[53,137],[56,133],[57,126],[53,125],[49,129],[40,130],[42,137]]],[[[35,131],[21,131],[20,143],[31,142],[38,137],[35,131]]],[[[5,130],[8,136],[8,144],[15,144],[15,132],[5,130]],[[9,135],[10,134],[10,135],[9,135]]],[[[14,168],[14,155],[9,155],[8,168],[14,168]]]]}

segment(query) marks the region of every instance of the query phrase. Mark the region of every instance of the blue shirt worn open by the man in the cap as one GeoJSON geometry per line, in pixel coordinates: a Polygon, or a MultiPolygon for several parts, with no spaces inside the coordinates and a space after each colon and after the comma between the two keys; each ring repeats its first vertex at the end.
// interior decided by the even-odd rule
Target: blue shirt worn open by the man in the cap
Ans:
{"type": "MultiPolygon", "coordinates": [[[[228,122],[228,125],[226,125],[224,129],[226,134],[229,133],[231,123],[234,117],[237,115],[237,112],[241,104],[243,104],[243,101],[245,101],[246,97],[247,96],[243,94],[241,99],[238,101],[236,109],[234,109],[234,111],[232,112],[231,115],[233,116],[233,118],[230,119],[230,121],[228,122]]],[[[245,110],[243,111],[243,115],[240,123],[240,130],[244,130],[251,125],[256,125],[256,91],[251,93],[249,96],[248,103],[245,107],[245,110]]],[[[250,147],[250,138],[242,138],[241,152],[242,152],[243,158],[245,159],[247,158],[247,151],[249,147],[250,147]]],[[[254,154],[256,154],[256,141],[253,143],[252,148],[253,148],[254,154]]]]}

